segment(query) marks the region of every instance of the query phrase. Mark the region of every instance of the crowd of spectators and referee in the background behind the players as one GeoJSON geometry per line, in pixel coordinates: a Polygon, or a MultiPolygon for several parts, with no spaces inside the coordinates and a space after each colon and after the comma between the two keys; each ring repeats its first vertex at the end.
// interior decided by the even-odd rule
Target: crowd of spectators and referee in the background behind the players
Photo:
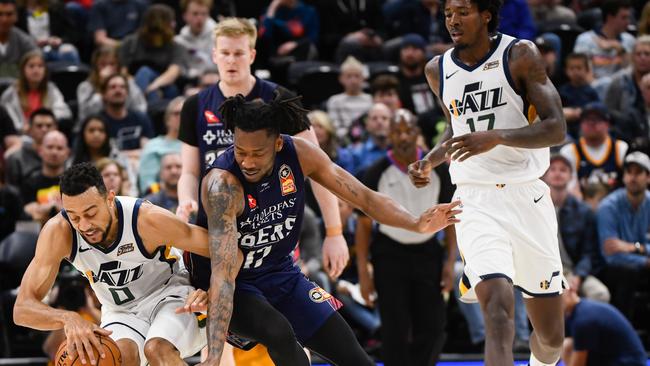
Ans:
{"type": "MultiPolygon", "coordinates": [[[[10,245],[30,259],[35,237],[23,233],[59,212],[58,177],[71,164],[93,162],[108,189],[176,211],[181,108],[219,80],[213,29],[230,16],[256,25],[254,74],[303,95],[333,161],[414,213],[450,200],[446,165],[426,189],[406,174],[446,125],[424,75],[452,47],[437,0],[0,0],[0,267],[14,260],[10,245]]],[[[595,308],[613,305],[648,349],[650,3],[504,0],[499,31],[537,45],[562,99],[566,140],[543,180],[565,276],[595,308]]],[[[319,258],[322,215],[309,202],[299,262],[345,304],[368,352],[387,365],[424,364],[413,350],[482,352],[479,305],[455,300],[453,228],[407,233],[340,202],[351,260],[331,279],[319,258]]],[[[74,277],[67,270],[62,281],[74,277]]],[[[0,357],[39,352],[17,345],[34,335],[11,325],[4,295],[22,272],[1,273],[0,357]]],[[[60,302],[87,309],[83,289],[78,304],[60,302]]],[[[515,299],[514,346],[526,352],[529,323],[515,299]]],[[[570,300],[567,315],[580,298],[570,300]]]]}

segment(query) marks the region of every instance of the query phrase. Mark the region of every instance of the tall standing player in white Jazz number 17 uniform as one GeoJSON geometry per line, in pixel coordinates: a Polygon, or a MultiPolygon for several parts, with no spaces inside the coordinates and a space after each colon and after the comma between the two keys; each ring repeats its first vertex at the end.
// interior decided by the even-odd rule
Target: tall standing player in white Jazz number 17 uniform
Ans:
{"type": "Polygon", "coordinates": [[[424,186],[431,168],[451,158],[454,199],[464,210],[456,230],[465,263],[461,299],[481,304],[485,364],[513,364],[514,285],[534,328],[530,364],[555,365],[564,281],[555,210],[539,178],[548,147],[564,140],[560,98],[535,45],[495,33],[501,0],[443,3],[454,48],[431,60],[425,74],[450,123],[409,175],[424,186]]]}

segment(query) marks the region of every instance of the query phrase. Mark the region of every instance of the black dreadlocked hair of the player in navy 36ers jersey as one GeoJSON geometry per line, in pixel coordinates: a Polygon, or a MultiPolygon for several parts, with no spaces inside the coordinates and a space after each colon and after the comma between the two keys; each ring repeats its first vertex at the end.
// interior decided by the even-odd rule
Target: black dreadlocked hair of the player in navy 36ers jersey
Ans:
{"type": "Polygon", "coordinates": [[[278,91],[270,103],[261,100],[246,101],[237,94],[226,99],[219,112],[226,127],[234,131],[239,128],[246,132],[267,130],[273,134],[284,131],[302,131],[309,128],[308,110],[302,108],[298,101],[302,96],[282,99],[278,91]]]}

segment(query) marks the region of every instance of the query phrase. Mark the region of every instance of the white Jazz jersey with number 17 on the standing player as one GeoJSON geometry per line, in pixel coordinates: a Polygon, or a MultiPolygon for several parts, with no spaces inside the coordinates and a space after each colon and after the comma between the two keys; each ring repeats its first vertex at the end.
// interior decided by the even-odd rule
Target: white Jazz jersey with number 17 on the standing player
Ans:
{"type": "MultiPolygon", "coordinates": [[[[454,136],[524,127],[537,119],[535,108],[517,92],[508,68],[508,53],[517,41],[499,33],[496,48],[472,67],[463,64],[453,48],[439,58],[439,95],[451,115],[454,136]]],[[[541,177],[548,166],[548,148],[497,145],[463,162],[452,161],[449,173],[455,184],[522,183],[541,177]]]]}

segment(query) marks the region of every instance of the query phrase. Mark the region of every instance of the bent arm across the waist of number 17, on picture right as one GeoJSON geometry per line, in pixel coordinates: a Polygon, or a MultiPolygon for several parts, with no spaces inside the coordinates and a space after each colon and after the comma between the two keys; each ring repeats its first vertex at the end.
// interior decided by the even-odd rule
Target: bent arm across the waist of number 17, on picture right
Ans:
{"type": "Polygon", "coordinates": [[[510,51],[510,72],[520,95],[535,107],[540,121],[530,126],[498,130],[503,145],[541,148],[560,144],[566,135],[560,95],[546,74],[544,60],[530,41],[519,41],[510,51]]]}

